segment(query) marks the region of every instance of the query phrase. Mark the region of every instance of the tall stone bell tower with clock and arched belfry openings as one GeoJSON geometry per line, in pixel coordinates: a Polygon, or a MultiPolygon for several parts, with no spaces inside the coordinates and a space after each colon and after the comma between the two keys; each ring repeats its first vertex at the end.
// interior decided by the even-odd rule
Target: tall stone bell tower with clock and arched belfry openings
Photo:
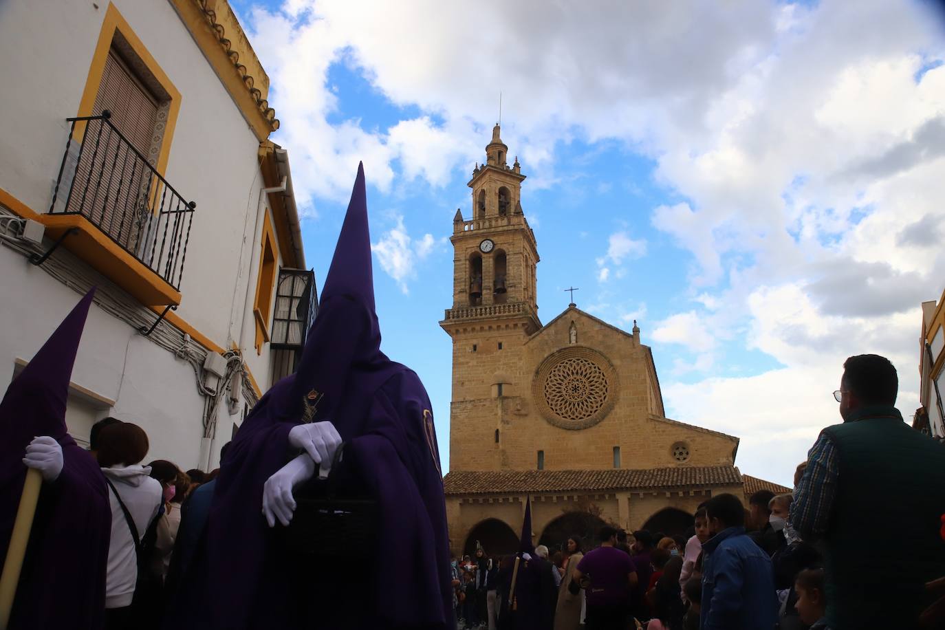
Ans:
{"type": "Polygon", "coordinates": [[[524,391],[523,345],[541,329],[535,297],[538,246],[521,203],[525,176],[517,158],[508,166],[500,131],[498,125],[492,129],[486,162],[476,164],[467,183],[472,216],[464,219],[456,210],[450,238],[453,306],[439,325],[453,338],[453,470],[501,467],[494,444],[479,444],[484,424],[495,425],[498,443],[502,414],[497,400],[524,391]],[[474,427],[477,437],[464,435],[463,427],[474,427]]]}

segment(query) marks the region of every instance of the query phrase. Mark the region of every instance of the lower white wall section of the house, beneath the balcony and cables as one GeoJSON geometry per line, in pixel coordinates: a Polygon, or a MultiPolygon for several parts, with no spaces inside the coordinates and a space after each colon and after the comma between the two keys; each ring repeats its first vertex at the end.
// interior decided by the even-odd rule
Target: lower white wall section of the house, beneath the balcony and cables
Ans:
{"type": "MultiPolygon", "coordinates": [[[[0,247],[0,269],[0,383],[6,388],[17,359],[32,359],[81,295],[8,247],[0,247]]],[[[194,370],[96,306],[89,311],[72,382],[114,400],[100,417],[128,420],[146,431],[148,461],[170,459],[183,469],[198,465],[203,398],[194,370]]],[[[88,439],[87,427],[69,429],[88,439]]]]}

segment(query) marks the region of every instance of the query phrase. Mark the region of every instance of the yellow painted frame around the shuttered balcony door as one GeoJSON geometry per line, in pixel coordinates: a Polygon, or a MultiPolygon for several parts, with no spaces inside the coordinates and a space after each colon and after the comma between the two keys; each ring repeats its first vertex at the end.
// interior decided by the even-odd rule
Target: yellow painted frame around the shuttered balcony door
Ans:
{"type": "MultiPolygon", "coordinates": [[[[91,116],[95,104],[95,96],[98,95],[98,87],[102,82],[102,74],[105,72],[105,61],[108,59],[109,51],[112,49],[112,40],[115,32],[119,31],[128,40],[134,54],[141,59],[147,69],[158,79],[167,94],[170,94],[170,109],[167,111],[167,123],[164,127],[164,134],[161,140],[161,151],[158,153],[158,163],[155,168],[161,175],[167,168],[167,160],[171,153],[171,139],[174,137],[174,128],[177,127],[177,118],[180,113],[180,92],[171,79],[164,74],[161,66],[154,60],[147,51],[141,38],[135,34],[128,21],[122,17],[118,9],[110,2],[109,8],[105,10],[105,19],[102,22],[102,30],[98,35],[98,43],[95,44],[95,52],[92,56],[92,64],[89,66],[89,75],[85,79],[85,89],[82,91],[82,98],[78,102],[77,116],[91,116]]],[[[85,134],[85,126],[77,123],[76,132],[73,134],[77,141],[81,142],[85,134]]]]}

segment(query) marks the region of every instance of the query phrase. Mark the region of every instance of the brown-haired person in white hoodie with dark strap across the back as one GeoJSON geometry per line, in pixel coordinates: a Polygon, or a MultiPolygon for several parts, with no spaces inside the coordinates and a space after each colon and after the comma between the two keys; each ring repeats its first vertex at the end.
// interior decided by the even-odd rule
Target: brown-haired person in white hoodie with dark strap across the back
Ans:
{"type": "Polygon", "coordinates": [[[136,424],[121,422],[98,435],[98,466],[109,485],[112,540],[105,579],[106,629],[140,627],[131,607],[138,580],[138,547],[163,503],[161,482],[142,466],[147,434],[136,424]]]}

